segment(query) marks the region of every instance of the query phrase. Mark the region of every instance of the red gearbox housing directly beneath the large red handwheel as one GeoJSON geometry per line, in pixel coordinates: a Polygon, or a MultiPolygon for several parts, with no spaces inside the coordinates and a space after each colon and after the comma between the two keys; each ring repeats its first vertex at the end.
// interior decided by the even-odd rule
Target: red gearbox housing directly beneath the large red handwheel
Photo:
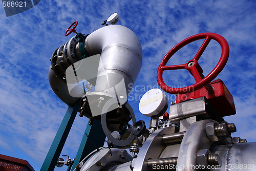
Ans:
{"type": "Polygon", "coordinates": [[[228,91],[223,81],[217,79],[210,82],[210,84],[214,87],[214,92],[208,93],[205,88],[201,88],[191,93],[177,94],[176,103],[205,96],[221,116],[236,114],[233,96],[228,91]]]}

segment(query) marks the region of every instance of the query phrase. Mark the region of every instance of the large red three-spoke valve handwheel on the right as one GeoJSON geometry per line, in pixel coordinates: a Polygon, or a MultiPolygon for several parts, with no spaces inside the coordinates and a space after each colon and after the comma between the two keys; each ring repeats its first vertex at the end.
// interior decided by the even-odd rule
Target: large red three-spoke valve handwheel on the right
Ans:
{"type": "Polygon", "coordinates": [[[227,43],[226,39],[219,34],[200,33],[200,34],[196,34],[194,36],[188,37],[188,38],[182,40],[181,42],[179,42],[179,44],[177,44],[175,47],[173,47],[173,49],[169,50],[169,52],[164,56],[163,60],[161,61],[160,65],[158,67],[158,70],[157,70],[157,82],[163,91],[165,91],[167,93],[171,93],[171,94],[184,94],[184,93],[196,91],[196,90],[206,86],[206,84],[210,83],[210,81],[214,80],[220,74],[220,72],[223,70],[223,68],[225,67],[225,65],[227,63],[228,55],[229,55],[228,43],[227,43]],[[193,41],[196,41],[199,39],[203,39],[203,38],[205,38],[205,40],[193,59],[189,60],[187,63],[182,64],[182,65],[165,66],[167,61],[170,59],[170,57],[172,57],[178,50],[180,50],[187,44],[190,44],[190,42],[193,42],[193,41]],[[203,75],[202,75],[203,70],[199,66],[198,60],[201,57],[201,55],[203,54],[206,47],[208,46],[211,39],[216,40],[220,44],[221,49],[222,49],[221,57],[220,57],[219,62],[216,65],[216,67],[206,77],[203,78],[203,75]],[[184,88],[168,87],[165,84],[165,82],[163,81],[163,71],[165,71],[165,70],[180,70],[180,69],[188,70],[190,72],[190,74],[192,74],[194,76],[196,83],[194,83],[188,87],[184,87],[184,88]]]}

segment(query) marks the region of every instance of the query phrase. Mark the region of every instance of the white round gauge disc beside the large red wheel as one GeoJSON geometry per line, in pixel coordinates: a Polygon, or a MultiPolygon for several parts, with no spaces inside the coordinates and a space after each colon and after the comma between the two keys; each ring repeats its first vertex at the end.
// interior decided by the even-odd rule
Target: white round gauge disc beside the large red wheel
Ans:
{"type": "Polygon", "coordinates": [[[168,104],[168,100],[160,89],[151,89],[142,96],[139,110],[147,117],[155,116],[164,109],[166,103],[168,104]]]}

